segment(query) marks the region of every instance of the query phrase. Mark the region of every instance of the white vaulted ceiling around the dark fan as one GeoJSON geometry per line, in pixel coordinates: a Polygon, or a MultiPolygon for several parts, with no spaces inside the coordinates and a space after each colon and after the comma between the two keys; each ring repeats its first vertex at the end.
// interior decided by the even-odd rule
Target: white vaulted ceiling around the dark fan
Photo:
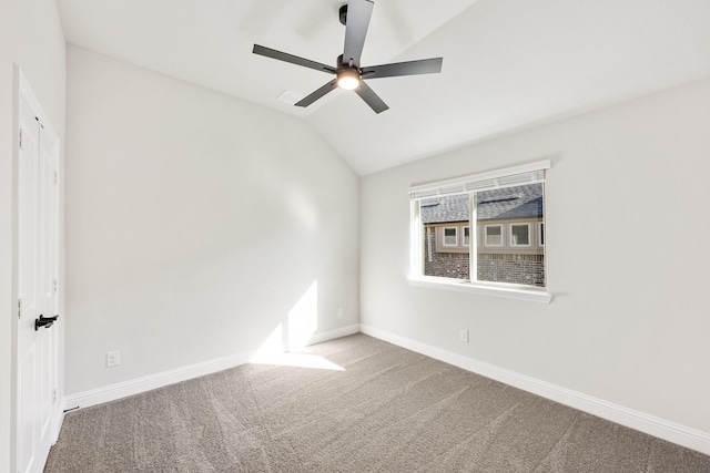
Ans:
{"type": "Polygon", "coordinates": [[[443,72],[372,80],[376,115],[332,76],[344,0],[57,0],[67,41],[306,120],[366,175],[467,143],[710,76],[708,0],[375,0],[362,64],[444,58],[443,72]]]}

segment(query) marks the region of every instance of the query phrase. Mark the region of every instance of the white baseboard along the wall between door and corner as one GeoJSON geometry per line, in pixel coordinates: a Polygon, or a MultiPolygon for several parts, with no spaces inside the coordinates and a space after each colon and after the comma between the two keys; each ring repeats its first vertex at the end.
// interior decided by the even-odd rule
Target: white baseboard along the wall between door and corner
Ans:
{"type": "MultiPolygon", "coordinates": [[[[327,332],[315,333],[307,345],[321,343],[323,341],[333,340],[335,338],[345,337],[359,332],[359,325],[352,325],[327,332]]],[[[203,361],[201,363],[189,364],[186,367],[176,368],[174,370],[162,371],[155,374],[123,381],[116,384],[110,384],[98,389],[67,395],[63,400],[64,409],[83,409],[104,402],[115,401],[164,385],[174,384],[176,382],[186,381],[189,379],[212,374],[217,371],[227,370],[248,363],[256,354],[256,350],[230,354],[227,357],[217,358],[215,360],[203,361]]],[[[62,417],[63,420],[63,417],[62,417]]]]}

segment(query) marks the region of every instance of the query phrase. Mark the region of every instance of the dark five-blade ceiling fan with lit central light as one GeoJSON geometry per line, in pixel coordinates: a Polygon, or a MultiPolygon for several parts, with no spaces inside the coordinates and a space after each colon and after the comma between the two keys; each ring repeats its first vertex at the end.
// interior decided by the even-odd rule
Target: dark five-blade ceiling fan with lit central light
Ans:
{"type": "Polygon", "coordinates": [[[335,88],[341,88],[354,90],[375,113],[384,112],[389,107],[369,85],[365,83],[365,80],[442,72],[442,62],[444,59],[423,59],[419,61],[361,68],[359,60],[363,53],[363,45],[365,44],[365,37],[367,35],[367,27],[369,25],[373,7],[374,3],[372,0],[349,0],[348,3],[341,7],[339,19],[341,23],[345,25],[345,48],[343,54],[337,58],[335,68],[258,44],[254,44],[253,53],[304,68],[315,69],[316,71],[327,72],[328,74],[335,74],[335,79],[296,102],[296,106],[308,106],[335,88]]]}

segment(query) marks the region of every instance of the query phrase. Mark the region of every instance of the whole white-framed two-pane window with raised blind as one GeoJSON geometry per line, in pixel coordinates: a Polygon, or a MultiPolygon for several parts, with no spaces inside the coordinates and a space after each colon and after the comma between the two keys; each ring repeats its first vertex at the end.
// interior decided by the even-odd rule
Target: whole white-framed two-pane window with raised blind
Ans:
{"type": "Polygon", "coordinates": [[[450,280],[457,287],[497,294],[505,289],[524,295],[520,298],[549,301],[544,292],[545,169],[549,167],[544,161],[413,186],[413,280],[450,280]],[[433,243],[433,237],[442,241],[433,243]]]}

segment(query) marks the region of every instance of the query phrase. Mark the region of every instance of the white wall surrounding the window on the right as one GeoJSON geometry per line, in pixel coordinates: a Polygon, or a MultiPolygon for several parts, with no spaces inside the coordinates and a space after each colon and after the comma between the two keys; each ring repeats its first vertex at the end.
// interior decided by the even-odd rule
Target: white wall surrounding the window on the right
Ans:
{"type": "Polygon", "coordinates": [[[362,323],[710,434],[709,124],[702,81],[363,177],[362,323]],[[547,156],[550,305],[407,284],[409,185],[547,156]]]}

